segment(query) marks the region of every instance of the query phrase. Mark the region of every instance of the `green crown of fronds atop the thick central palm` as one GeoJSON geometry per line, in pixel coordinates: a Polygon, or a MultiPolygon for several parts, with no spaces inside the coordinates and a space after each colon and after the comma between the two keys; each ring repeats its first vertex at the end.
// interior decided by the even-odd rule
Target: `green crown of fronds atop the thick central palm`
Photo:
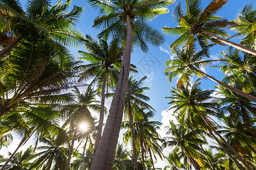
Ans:
{"type": "Polygon", "coordinates": [[[133,29],[133,43],[146,52],[146,42],[152,45],[162,44],[164,37],[147,24],[159,14],[168,12],[167,5],[174,1],[170,0],[117,0],[117,1],[88,1],[94,8],[100,8],[100,13],[94,20],[94,27],[103,28],[100,37],[112,35],[115,39],[126,39],[126,15],[130,16],[133,29]]]}

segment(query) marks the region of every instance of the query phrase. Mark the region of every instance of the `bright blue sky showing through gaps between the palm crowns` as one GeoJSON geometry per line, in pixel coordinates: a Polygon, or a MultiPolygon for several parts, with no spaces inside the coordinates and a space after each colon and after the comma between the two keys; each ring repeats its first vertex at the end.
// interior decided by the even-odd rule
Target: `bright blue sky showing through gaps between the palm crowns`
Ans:
{"type": "MultiPolygon", "coordinates": [[[[22,0],[20,2],[24,4],[26,1],[22,0]]],[[[56,2],[58,1],[52,1],[52,4],[56,2]]],[[[174,19],[172,18],[172,9],[179,2],[183,3],[184,9],[184,0],[177,0],[174,4],[168,6],[170,10],[168,14],[159,15],[157,18],[152,20],[150,24],[160,32],[162,32],[161,28],[163,28],[164,26],[176,27],[177,24],[174,22],[174,19]]],[[[203,8],[205,8],[210,2],[210,0],[203,0],[203,8]]],[[[228,4],[222,7],[222,9],[217,13],[217,15],[223,16],[228,20],[233,20],[236,18],[238,10],[240,10],[246,3],[250,2],[252,1],[229,0],[228,4]]],[[[79,24],[77,24],[77,29],[84,33],[84,35],[90,34],[94,37],[94,39],[96,39],[97,34],[100,33],[100,30],[92,28],[92,25],[94,18],[98,16],[98,11],[94,10],[93,8],[90,8],[88,3],[86,3],[85,1],[73,0],[72,5],[80,7],[84,6],[85,9],[79,24]]],[[[234,33],[235,32],[229,32],[230,35],[234,35],[234,33]]],[[[168,49],[168,47],[174,40],[176,40],[177,37],[171,37],[167,35],[164,36],[166,38],[166,41],[164,41],[160,47],[148,45],[148,53],[143,53],[141,49],[135,48],[134,52],[131,54],[131,63],[137,65],[139,70],[139,73],[137,75],[134,75],[135,78],[142,78],[144,75],[149,76],[148,80],[144,85],[150,87],[151,89],[150,91],[146,91],[146,95],[151,98],[149,104],[156,110],[154,120],[166,123],[166,118],[168,118],[169,114],[171,117],[171,113],[167,114],[166,112],[170,105],[167,104],[169,100],[164,99],[164,97],[170,96],[169,90],[171,90],[171,87],[176,86],[176,80],[173,80],[172,83],[167,82],[166,76],[164,75],[164,70],[166,69],[166,67],[164,66],[164,62],[167,61],[167,59],[170,59],[170,57],[172,56],[171,50],[168,49]],[[165,117],[163,117],[161,113],[164,113],[163,115],[165,117]]],[[[234,41],[238,42],[238,40],[234,41]]],[[[210,50],[210,55],[212,56],[212,58],[216,59],[217,56],[220,56],[220,51],[224,50],[225,48],[225,46],[216,45],[210,50]]],[[[79,57],[79,55],[77,54],[78,50],[85,49],[71,49],[75,57],[79,57]]],[[[219,80],[221,80],[224,77],[224,74],[221,73],[221,71],[218,68],[207,68],[205,70],[207,71],[207,74],[212,75],[219,80]]],[[[213,89],[214,85],[216,86],[217,84],[212,82],[211,80],[201,80],[201,88],[203,89],[213,89]]],[[[16,141],[16,144],[17,143],[18,141],[16,141]]],[[[12,146],[14,147],[15,145],[12,146]]]]}

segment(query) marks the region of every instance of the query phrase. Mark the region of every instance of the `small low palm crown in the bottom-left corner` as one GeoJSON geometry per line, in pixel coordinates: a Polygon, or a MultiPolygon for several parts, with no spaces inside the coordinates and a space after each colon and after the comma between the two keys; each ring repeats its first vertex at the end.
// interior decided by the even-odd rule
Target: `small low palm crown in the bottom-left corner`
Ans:
{"type": "MultiPolygon", "coordinates": [[[[34,151],[35,149],[32,148],[31,146],[27,148],[27,150],[20,151],[18,153],[16,153],[13,158],[11,158],[10,160],[10,164],[6,166],[5,169],[20,169],[20,170],[26,170],[30,167],[31,165],[31,161],[35,158],[34,155],[34,151]]],[[[9,152],[9,155],[11,155],[11,153],[9,152]]],[[[2,161],[5,161],[5,159],[3,159],[2,161]]],[[[3,165],[0,165],[0,167],[3,167],[3,165]]]]}

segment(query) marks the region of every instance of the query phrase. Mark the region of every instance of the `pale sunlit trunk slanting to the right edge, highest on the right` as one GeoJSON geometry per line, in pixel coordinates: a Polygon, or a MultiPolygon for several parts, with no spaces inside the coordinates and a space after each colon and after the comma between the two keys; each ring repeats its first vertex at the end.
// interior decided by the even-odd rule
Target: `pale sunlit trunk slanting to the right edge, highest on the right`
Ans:
{"type": "Polygon", "coordinates": [[[204,31],[203,29],[200,29],[200,31],[205,33],[208,36],[213,37],[214,39],[216,39],[218,41],[223,42],[224,44],[228,44],[230,46],[233,46],[234,48],[242,50],[243,52],[250,53],[250,54],[253,54],[254,56],[256,56],[256,50],[254,50],[254,49],[251,49],[251,48],[248,48],[247,46],[243,46],[243,45],[237,44],[235,42],[223,39],[221,37],[218,37],[218,36],[214,35],[213,33],[210,33],[208,31],[204,31]]]}

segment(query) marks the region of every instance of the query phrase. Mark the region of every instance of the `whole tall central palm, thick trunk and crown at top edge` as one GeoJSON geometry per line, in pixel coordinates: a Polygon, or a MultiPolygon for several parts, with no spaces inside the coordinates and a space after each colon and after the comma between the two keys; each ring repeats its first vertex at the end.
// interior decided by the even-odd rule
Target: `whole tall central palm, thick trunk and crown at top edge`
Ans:
{"type": "Polygon", "coordinates": [[[109,110],[109,117],[106,121],[98,150],[96,151],[95,162],[93,161],[92,164],[92,169],[112,169],[125,105],[132,45],[138,45],[146,52],[146,42],[150,42],[153,45],[163,43],[163,36],[158,31],[152,29],[147,24],[147,21],[159,14],[166,13],[168,11],[166,6],[173,1],[90,0],[88,2],[93,7],[100,8],[101,14],[105,14],[94,20],[94,27],[104,28],[100,36],[112,34],[115,39],[126,40],[125,43],[123,41],[125,49],[123,51],[122,67],[109,110]],[[133,35],[135,36],[134,38],[133,35]]]}

